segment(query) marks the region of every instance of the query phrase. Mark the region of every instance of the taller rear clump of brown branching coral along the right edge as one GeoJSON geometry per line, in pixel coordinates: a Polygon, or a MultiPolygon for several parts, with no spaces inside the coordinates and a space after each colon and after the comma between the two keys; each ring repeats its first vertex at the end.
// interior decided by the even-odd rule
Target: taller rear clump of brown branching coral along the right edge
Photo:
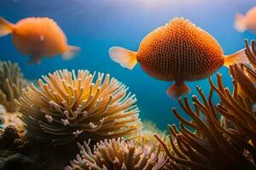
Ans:
{"type": "MultiPolygon", "coordinates": [[[[252,41],[252,48],[249,48],[246,40],[245,50],[250,63],[255,66],[256,49],[252,41]]],[[[228,88],[224,88],[220,75],[218,75],[218,87],[211,82],[212,88],[218,93],[221,105],[217,109],[224,116],[224,119],[231,122],[231,127],[243,139],[251,140],[255,146],[256,142],[256,117],[253,106],[256,102],[254,88],[256,71],[245,64],[231,65],[230,73],[233,77],[233,95],[228,88]]]]}

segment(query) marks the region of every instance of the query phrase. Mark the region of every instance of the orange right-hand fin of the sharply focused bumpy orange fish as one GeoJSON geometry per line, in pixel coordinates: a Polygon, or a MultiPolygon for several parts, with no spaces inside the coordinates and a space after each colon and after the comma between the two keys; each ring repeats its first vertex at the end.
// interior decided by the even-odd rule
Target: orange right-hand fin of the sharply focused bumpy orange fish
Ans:
{"type": "Polygon", "coordinates": [[[235,63],[248,63],[248,58],[245,53],[245,49],[241,49],[237,51],[235,54],[230,54],[228,56],[224,56],[224,66],[230,67],[235,63]]]}

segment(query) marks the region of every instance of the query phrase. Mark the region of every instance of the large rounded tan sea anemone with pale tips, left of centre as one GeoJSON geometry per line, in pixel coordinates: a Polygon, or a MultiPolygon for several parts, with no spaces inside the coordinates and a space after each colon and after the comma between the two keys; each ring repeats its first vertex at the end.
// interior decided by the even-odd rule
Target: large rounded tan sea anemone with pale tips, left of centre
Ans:
{"type": "Polygon", "coordinates": [[[27,87],[17,101],[29,136],[67,144],[73,139],[137,137],[142,128],[134,94],[107,74],[55,71],[27,87]]]}

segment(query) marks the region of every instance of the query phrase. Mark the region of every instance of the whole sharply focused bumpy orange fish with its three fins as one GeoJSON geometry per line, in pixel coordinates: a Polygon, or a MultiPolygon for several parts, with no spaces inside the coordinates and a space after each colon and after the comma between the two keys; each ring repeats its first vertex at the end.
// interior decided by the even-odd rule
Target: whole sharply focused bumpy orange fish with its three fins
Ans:
{"type": "Polygon", "coordinates": [[[244,49],[225,56],[218,42],[207,31],[183,18],[150,32],[137,52],[119,47],[109,49],[113,61],[132,69],[137,62],[149,76],[174,81],[166,93],[172,98],[187,94],[184,82],[211,76],[222,65],[245,62],[244,49]]]}

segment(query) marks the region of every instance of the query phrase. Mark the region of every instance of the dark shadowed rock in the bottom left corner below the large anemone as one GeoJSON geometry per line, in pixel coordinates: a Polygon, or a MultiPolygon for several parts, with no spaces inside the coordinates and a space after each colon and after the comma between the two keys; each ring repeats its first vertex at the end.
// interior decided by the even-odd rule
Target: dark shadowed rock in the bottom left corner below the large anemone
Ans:
{"type": "Polygon", "coordinates": [[[15,127],[4,128],[0,135],[0,170],[63,169],[76,154],[76,145],[53,146],[20,135],[15,127]]]}

